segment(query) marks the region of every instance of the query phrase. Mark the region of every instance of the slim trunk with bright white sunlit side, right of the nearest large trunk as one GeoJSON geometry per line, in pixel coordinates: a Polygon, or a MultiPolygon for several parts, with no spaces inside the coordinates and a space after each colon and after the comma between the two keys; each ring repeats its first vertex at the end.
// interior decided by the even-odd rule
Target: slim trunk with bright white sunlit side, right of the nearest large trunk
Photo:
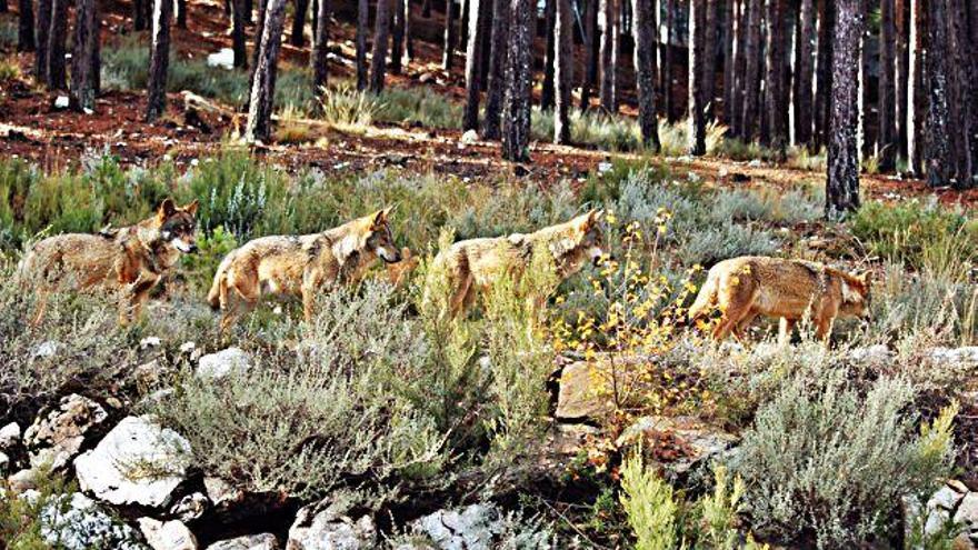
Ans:
{"type": "Polygon", "coordinates": [[[910,0],[910,78],[907,110],[907,163],[924,173],[924,127],[927,120],[927,0],[910,0]]]}

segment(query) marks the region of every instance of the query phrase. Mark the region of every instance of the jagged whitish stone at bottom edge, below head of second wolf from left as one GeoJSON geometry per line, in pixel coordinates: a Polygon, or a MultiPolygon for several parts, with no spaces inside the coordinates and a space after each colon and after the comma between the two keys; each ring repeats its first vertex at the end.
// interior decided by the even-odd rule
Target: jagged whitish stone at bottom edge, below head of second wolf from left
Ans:
{"type": "Polygon", "coordinates": [[[286,550],[358,550],[373,548],[377,528],[370,516],[356,522],[332,507],[317,511],[317,506],[299,510],[289,528],[286,550]]]}

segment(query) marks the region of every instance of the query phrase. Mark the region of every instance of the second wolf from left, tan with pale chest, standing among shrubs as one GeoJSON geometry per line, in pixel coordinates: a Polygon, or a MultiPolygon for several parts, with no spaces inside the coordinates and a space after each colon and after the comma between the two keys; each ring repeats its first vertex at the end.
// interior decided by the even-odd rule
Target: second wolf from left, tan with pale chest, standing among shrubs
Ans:
{"type": "Polygon", "coordinates": [[[378,210],[320,233],[262,237],[229,252],[207,297],[211,308],[223,312],[221,330],[262,294],[301,297],[310,322],[321,289],[359,282],[378,257],[387,263],[401,261],[389,213],[389,208],[378,210]]]}

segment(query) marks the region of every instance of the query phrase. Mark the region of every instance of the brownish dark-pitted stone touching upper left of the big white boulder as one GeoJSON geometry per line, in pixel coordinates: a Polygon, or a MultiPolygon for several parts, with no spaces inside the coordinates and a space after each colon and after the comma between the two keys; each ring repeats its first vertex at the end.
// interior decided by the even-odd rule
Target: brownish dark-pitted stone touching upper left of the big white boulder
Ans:
{"type": "Polygon", "coordinates": [[[61,399],[58,408],[39,417],[23,434],[23,442],[36,449],[30,454],[32,468],[59,470],[81,450],[84,436],[101,424],[109,414],[99,403],[72,393],[61,399]]]}

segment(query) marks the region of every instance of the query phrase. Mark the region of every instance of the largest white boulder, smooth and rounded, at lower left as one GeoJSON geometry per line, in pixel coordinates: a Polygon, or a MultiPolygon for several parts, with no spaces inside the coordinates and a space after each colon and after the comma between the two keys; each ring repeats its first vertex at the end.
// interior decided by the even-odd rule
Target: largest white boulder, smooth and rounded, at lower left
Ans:
{"type": "Polygon", "coordinates": [[[74,459],[82,490],[112,504],[166,506],[186,476],[190,443],[149,417],[127,417],[74,459]]]}

